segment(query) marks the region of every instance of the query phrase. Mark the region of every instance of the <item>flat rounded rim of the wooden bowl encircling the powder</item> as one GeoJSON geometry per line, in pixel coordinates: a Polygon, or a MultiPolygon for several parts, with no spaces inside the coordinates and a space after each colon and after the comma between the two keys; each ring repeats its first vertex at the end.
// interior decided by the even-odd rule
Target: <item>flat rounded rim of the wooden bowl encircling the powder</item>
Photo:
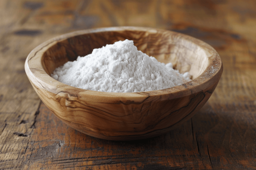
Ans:
{"type": "MultiPolygon", "coordinates": [[[[136,27],[136,26],[119,26],[119,27],[103,27],[103,28],[94,28],[94,29],[85,29],[74,31],[71,33],[62,34],[60,36],[54,37],[48,41],[43,42],[34,48],[29,54],[25,62],[25,71],[29,78],[29,80],[36,85],[41,86],[49,92],[62,95],[62,92],[68,93],[70,96],[76,97],[85,97],[85,96],[94,96],[93,101],[102,101],[122,98],[131,101],[143,99],[146,100],[149,96],[161,96],[164,99],[175,99],[179,97],[184,97],[187,95],[191,95],[197,92],[200,92],[207,87],[213,85],[218,81],[220,75],[223,71],[223,64],[220,59],[220,55],[217,51],[212,48],[209,44],[189,35],[185,35],[182,33],[177,33],[170,30],[158,29],[158,28],[150,28],[150,27],[136,27]],[[87,33],[98,33],[98,32],[110,32],[110,31],[147,31],[150,33],[175,33],[179,36],[182,36],[182,39],[189,41],[193,44],[196,44],[200,48],[204,49],[207,54],[212,54],[208,57],[208,65],[204,72],[200,74],[195,79],[167,89],[147,91],[147,92],[99,92],[99,91],[91,91],[80,89],[77,87],[69,86],[63,84],[51,76],[49,76],[43,68],[42,65],[42,56],[44,52],[46,52],[50,47],[55,45],[57,42],[64,41],[68,38],[79,36],[87,33]],[[207,51],[206,51],[207,50],[207,51]],[[36,68],[35,68],[36,67],[36,68]]],[[[64,95],[63,93],[63,95],[64,95]]],[[[65,94],[66,95],[66,94],[65,94]]],[[[115,100],[116,101],[116,100],[115,100]]],[[[120,99],[121,101],[121,99],[120,99]]]]}

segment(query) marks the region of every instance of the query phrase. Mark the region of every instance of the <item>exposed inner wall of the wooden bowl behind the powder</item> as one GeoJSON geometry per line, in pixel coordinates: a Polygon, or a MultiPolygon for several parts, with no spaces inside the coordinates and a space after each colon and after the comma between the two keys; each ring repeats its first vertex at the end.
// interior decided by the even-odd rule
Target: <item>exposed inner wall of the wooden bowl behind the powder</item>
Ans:
{"type": "Polygon", "coordinates": [[[192,37],[171,31],[111,30],[85,33],[57,41],[44,52],[42,66],[51,75],[55,68],[76,60],[77,56],[91,54],[94,48],[125,39],[133,40],[138,50],[155,57],[159,62],[171,62],[174,69],[181,73],[188,71],[192,79],[202,74],[208,65],[209,55],[192,37]]]}

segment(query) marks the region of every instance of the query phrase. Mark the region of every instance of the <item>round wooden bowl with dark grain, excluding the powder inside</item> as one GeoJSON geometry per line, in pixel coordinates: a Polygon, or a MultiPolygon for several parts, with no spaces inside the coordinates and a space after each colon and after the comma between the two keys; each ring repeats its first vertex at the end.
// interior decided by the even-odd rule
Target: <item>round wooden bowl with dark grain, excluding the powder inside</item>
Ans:
{"type": "Polygon", "coordinates": [[[209,99],[223,66],[218,53],[196,38],[144,27],[76,31],[33,49],[25,70],[36,93],[63,122],[87,135],[108,140],[136,140],[161,135],[190,119],[209,99]],[[163,63],[172,62],[192,81],[150,92],[84,90],[50,77],[55,68],[94,48],[133,40],[138,50],[163,63]]]}

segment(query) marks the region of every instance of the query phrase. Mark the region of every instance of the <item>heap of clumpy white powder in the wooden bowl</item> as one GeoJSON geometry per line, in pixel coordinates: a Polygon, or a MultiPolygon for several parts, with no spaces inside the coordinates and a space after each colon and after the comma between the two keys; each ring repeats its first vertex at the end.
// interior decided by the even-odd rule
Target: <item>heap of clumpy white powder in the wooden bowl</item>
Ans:
{"type": "Polygon", "coordinates": [[[53,71],[52,78],[74,87],[101,92],[145,92],[190,81],[189,74],[173,70],[137,50],[133,41],[118,41],[78,56],[53,71]]]}

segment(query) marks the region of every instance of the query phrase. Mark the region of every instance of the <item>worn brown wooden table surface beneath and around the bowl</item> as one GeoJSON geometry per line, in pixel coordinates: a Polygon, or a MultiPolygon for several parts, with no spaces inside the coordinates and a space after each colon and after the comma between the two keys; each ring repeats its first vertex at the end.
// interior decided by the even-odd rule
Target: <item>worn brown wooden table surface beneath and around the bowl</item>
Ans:
{"type": "Polygon", "coordinates": [[[256,1],[0,1],[0,169],[256,169],[256,1]],[[164,135],[84,135],[41,102],[24,70],[40,43],[75,30],[147,26],[212,45],[224,70],[204,107],[164,135]]]}

